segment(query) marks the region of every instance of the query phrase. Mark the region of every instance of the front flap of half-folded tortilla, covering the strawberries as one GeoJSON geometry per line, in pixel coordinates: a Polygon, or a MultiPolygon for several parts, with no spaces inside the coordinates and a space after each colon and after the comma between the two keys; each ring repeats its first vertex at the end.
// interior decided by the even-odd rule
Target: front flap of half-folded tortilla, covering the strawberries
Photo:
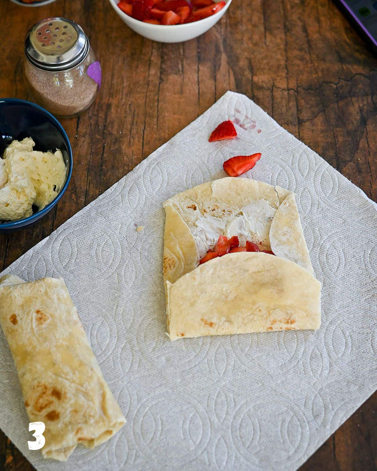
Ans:
{"type": "Polygon", "coordinates": [[[320,282],[262,252],[229,253],[167,282],[167,325],[179,338],[320,328],[320,282]]]}

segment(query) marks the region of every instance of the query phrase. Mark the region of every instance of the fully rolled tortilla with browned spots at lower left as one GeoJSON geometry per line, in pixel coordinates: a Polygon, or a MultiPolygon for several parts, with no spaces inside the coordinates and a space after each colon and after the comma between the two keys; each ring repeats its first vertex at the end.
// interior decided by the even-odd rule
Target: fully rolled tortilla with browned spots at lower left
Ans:
{"type": "Polygon", "coordinates": [[[0,279],[0,323],[30,422],[44,422],[44,458],[65,461],[125,423],[62,278],[0,279]]]}

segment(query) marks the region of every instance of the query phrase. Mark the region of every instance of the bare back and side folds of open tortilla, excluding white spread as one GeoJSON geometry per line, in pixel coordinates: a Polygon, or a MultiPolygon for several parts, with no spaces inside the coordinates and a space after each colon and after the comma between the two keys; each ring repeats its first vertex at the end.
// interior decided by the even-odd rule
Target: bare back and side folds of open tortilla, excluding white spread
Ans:
{"type": "Polygon", "coordinates": [[[276,209],[271,222],[270,247],[311,275],[313,268],[305,243],[295,195],[282,187],[252,179],[227,177],[178,193],[164,203],[164,282],[174,283],[197,267],[199,252],[189,226],[204,216],[236,215],[251,202],[265,200],[276,209]],[[284,204],[283,204],[284,203],[284,204]]]}

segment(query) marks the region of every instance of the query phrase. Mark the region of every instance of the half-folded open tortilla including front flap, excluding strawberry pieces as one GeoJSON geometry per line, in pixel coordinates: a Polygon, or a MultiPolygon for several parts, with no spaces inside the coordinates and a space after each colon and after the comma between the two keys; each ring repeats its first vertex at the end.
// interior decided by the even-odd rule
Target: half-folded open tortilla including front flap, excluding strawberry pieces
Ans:
{"type": "Polygon", "coordinates": [[[179,193],[165,201],[164,209],[163,272],[171,340],[319,328],[320,283],[313,276],[294,193],[228,177],[179,193]],[[248,240],[275,255],[239,252],[198,267],[219,235],[237,235],[240,245],[248,240]]]}

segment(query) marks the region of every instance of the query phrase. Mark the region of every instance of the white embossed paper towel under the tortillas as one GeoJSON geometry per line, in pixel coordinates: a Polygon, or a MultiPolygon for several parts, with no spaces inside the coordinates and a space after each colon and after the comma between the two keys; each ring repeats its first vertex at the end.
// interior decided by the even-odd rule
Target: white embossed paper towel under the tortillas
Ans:
{"type": "Polygon", "coordinates": [[[29,451],[1,333],[0,426],[41,471],[294,470],[377,388],[376,240],[376,203],[250,99],[228,92],[3,272],[64,277],[126,425],[94,450],[76,448],[68,464],[29,451]],[[227,119],[238,137],[209,143],[227,119]],[[229,157],[254,152],[262,158],[246,178],[297,194],[323,284],[321,328],[171,343],[162,203],[225,176],[229,157]]]}

